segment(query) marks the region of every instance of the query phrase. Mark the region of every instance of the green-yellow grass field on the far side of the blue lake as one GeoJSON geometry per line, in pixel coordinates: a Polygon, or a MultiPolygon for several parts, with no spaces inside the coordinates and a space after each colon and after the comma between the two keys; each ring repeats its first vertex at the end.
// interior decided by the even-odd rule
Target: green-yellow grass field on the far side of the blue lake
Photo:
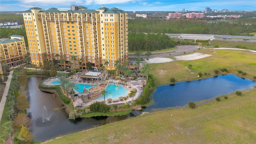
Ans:
{"type": "Polygon", "coordinates": [[[212,56],[198,60],[150,64],[150,74],[154,75],[156,84],[158,86],[169,84],[170,78],[175,78],[176,81],[196,80],[199,79],[197,77],[199,72],[202,72],[202,78],[208,78],[214,76],[214,70],[219,70],[220,68],[227,68],[229,71],[222,74],[233,73],[242,76],[237,72],[237,70],[242,70],[246,72],[246,75],[242,76],[244,78],[253,80],[253,77],[256,76],[255,54],[242,50],[201,49],[197,52],[211,54],[212,56]],[[192,64],[191,72],[188,72],[189,64],[192,64]],[[204,76],[204,73],[210,73],[210,75],[204,76]]]}

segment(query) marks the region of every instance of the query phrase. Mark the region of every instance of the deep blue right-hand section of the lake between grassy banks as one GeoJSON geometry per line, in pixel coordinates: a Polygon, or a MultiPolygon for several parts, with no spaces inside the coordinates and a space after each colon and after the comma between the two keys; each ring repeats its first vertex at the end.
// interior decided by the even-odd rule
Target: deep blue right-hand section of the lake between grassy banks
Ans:
{"type": "Polygon", "coordinates": [[[153,94],[154,104],[146,108],[146,111],[152,112],[154,108],[184,106],[190,101],[208,100],[236,90],[253,88],[254,85],[256,82],[252,80],[230,74],[158,86],[153,94]]]}

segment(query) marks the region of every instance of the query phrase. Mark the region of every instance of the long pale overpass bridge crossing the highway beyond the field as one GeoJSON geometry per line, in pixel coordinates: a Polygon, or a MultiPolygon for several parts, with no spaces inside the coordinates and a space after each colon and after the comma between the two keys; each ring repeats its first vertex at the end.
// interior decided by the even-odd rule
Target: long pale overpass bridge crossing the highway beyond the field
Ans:
{"type": "Polygon", "coordinates": [[[184,39],[189,39],[189,40],[214,40],[214,35],[210,34],[180,34],[178,38],[184,40],[184,39]]]}

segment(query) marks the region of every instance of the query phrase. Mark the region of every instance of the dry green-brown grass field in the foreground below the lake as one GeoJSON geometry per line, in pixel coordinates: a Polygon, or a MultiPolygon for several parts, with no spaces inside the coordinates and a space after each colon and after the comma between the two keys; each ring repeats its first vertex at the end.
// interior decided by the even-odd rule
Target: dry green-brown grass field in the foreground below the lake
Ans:
{"type": "Polygon", "coordinates": [[[47,144],[252,144],[256,89],[195,109],[154,112],[55,138],[47,144]]]}

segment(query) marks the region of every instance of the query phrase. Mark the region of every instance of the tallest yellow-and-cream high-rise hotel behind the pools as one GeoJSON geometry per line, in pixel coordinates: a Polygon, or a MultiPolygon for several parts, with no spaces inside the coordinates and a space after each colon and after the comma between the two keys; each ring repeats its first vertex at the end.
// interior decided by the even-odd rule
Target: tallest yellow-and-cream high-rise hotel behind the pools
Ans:
{"type": "Polygon", "coordinates": [[[33,7],[23,12],[32,64],[64,59],[60,66],[85,69],[90,62],[99,69],[108,61],[106,68],[112,70],[116,60],[127,61],[128,13],[103,6],[98,10],[75,7],[33,7]]]}

